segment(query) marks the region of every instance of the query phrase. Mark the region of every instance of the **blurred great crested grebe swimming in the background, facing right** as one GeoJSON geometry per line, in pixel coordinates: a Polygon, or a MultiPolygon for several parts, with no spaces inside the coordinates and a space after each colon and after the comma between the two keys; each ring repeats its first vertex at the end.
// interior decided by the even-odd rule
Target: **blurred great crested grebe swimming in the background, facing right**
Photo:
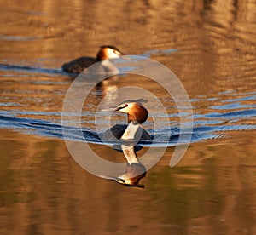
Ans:
{"type": "Polygon", "coordinates": [[[119,58],[119,56],[123,55],[119,49],[111,45],[101,46],[101,49],[98,51],[96,58],[94,57],[80,57],[75,60],[71,60],[64,65],[61,66],[64,72],[69,73],[81,73],[85,68],[95,64],[101,60],[114,59],[119,58]]]}

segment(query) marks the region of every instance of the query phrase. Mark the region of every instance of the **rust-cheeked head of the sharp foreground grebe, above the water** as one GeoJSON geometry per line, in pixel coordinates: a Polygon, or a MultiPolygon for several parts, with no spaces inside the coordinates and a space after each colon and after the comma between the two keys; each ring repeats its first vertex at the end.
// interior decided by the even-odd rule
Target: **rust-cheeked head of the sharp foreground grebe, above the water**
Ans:
{"type": "Polygon", "coordinates": [[[123,102],[115,108],[115,111],[125,112],[128,115],[128,123],[144,123],[148,118],[148,110],[140,102],[123,102]]]}

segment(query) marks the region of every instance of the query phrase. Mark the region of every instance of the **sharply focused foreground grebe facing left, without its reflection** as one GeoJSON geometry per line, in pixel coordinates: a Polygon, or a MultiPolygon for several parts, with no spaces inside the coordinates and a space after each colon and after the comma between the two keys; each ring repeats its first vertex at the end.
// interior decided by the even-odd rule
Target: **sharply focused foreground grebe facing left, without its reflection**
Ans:
{"type": "Polygon", "coordinates": [[[117,124],[108,129],[103,140],[116,139],[135,139],[135,140],[151,140],[150,135],[145,129],[141,128],[141,124],[148,118],[148,110],[142,105],[147,100],[125,100],[119,106],[114,106],[107,111],[125,112],[128,115],[128,126],[125,124],[117,124]]]}

